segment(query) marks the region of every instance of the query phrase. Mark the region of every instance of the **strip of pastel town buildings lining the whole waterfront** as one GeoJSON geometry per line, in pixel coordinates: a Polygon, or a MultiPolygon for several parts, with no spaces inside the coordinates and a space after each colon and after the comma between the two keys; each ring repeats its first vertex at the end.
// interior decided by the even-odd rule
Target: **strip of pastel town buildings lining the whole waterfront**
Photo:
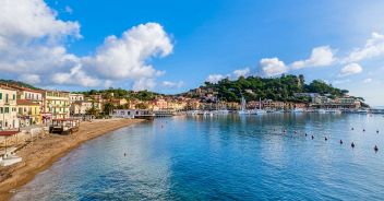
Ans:
{"type": "MultiPolygon", "coordinates": [[[[244,93],[254,94],[245,88],[244,93]]],[[[215,87],[200,86],[178,95],[164,95],[147,91],[121,88],[72,93],[31,88],[15,83],[0,84],[0,130],[14,130],[29,126],[47,126],[55,119],[77,118],[141,118],[179,114],[215,114],[259,110],[262,113],[370,113],[363,99],[344,95],[293,93],[308,102],[259,98],[245,102],[225,100],[215,87]]],[[[372,110],[377,113],[377,110],[372,110]]]]}

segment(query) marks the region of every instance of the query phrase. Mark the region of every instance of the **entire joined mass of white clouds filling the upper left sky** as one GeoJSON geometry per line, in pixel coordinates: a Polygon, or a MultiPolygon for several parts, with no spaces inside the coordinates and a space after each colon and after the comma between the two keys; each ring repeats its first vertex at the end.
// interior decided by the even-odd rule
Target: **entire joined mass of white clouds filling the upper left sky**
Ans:
{"type": "Polygon", "coordinates": [[[166,57],[173,48],[161,25],[147,23],[121,38],[107,37],[94,56],[77,57],[65,44],[82,37],[80,24],[58,19],[43,0],[0,1],[0,71],[39,85],[106,86],[118,80],[153,87],[164,71],[151,59],[166,57]]]}

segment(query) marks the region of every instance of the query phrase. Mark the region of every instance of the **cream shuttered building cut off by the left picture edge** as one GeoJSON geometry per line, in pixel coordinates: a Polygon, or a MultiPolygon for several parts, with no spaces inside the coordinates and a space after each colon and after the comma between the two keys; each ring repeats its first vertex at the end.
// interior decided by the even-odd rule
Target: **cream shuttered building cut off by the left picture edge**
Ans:
{"type": "Polygon", "coordinates": [[[16,90],[0,85],[0,130],[19,128],[16,90]]]}

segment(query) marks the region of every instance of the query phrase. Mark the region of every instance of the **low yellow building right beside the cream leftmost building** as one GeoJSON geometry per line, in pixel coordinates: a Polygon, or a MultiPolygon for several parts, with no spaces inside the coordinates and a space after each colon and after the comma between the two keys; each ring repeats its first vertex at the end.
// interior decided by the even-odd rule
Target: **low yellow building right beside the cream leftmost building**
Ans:
{"type": "Polygon", "coordinates": [[[40,105],[27,99],[17,99],[17,116],[21,127],[40,125],[40,105]]]}

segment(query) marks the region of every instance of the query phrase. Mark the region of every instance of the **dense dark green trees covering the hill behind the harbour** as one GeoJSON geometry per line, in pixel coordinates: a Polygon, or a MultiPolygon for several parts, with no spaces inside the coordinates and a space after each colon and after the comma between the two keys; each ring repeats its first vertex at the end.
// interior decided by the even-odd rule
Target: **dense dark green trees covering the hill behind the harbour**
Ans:
{"type": "Polygon", "coordinates": [[[281,75],[279,78],[261,78],[261,76],[240,76],[231,81],[224,79],[217,84],[205,82],[206,87],[214,88],[218,92],[221,100],[239,102],[241,95],[247,100],[256,100],[259,98],[268,98],[283,102],[309,102],[305,96],[295,96],[295,93],[319,93],[327,94],[331,97],[343,96],[348,93],[346,90],[339,90],[321,80],[314,80],[305,84],[303,75],[281,75]]]}

